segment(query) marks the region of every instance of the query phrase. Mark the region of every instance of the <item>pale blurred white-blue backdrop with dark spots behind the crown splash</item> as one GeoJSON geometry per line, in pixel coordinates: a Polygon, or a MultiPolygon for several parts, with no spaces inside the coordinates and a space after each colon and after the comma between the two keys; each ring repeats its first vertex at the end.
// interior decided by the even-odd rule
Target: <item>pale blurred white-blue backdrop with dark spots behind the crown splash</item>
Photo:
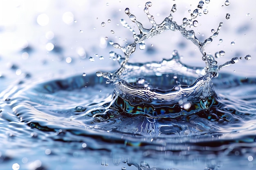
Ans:
{"type": "MultiPolygon", "coordinates": [[[[133,42],[132,33],[120,24],[120,19],[126,20],[139,33],[137,26],[124,13],[126,7],[130,8],[131,13],[135,14],[144,27],[151,27],[144,13],[145,2],[1,0],[0,76],[5,79],[0,81],[8,85],[13,80],[28,76],[27,74],[34,79],[45,80],[117,69],[119,65],[110,57],[109,51],[121,55],[122,51],[114,49],[109,42],[118,42],[122,46],[133,42]],[[91,60],[94,62],[91,62],[89,57],[93,57],[91,60]]],[[[189,18],[199,1],[152,2],[150,14],[155,16],[158,24],[169,15],[174,3],[177,4],[177,11],[173,14],[173,20],[181,24],[184,17],[189,18]]],[[[224,23],[218,37],[205,48],[211,55],[221,50],[225,51],[225,56],[217,59],[219,64],[232,57],[252,55],[249,62],[243,59],[233,66],[223,68],[223,71],[235,71],[235,74],[245,76],[252,76],[255,73],[254,4],[255,2],[250,0],[230,1],[229,5],[225,5],[225,0],[204,3],[200,11],[202,15],[196,18],[198,26],[187,27],[195,31],[200,41],[204,41],[212,35],[212,29],[216,30],[220,22],[224,23]],[[226,19],[227,13],[230,14],[229,19],[226,19]]],[[[179,32],[166,31],[145,43],[146,49],[137,48],[131,55],[130,62],[169,58],[171,52],[177,49],[182,56],[182,62],[204,66],[197,47],[183,38],[179,32]]]]}

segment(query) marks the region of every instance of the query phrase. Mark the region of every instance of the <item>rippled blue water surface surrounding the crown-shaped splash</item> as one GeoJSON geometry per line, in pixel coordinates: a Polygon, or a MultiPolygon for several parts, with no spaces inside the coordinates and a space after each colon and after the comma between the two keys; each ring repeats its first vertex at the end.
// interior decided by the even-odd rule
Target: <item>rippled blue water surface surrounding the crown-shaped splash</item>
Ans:
{"type": "MultiPolygon", "coordinates": [[[[55,5],[58,6],[57,4],[55,5]]],[[[91,5],[94,7],[93,4],[91,5]]],[[[111,4],[104,3],[104,7],[109,5],[111,4]]],[[[127,7],[127,4],[123,5],[127,7]]],[[[144,3],[141,4],[142,9],[143,5],[144,3]]],[[[166,12],[167,15],[169,11],[166,12]]],[[[252,11],[250,13],[252,17],[252,11]]],[[[99,20],[100,29],[101,22],[102,20],[99,20]]],[[[105,22],[107,24],[107,21],[105,22]]],[[[113,22],[114,20],[110,23],[113,22]]],[[[248,23],[253,29],[250,25],[251,20],[248,20],[248,23]]],[[[79,28],[79,26],[74,27],[79,28]]],[[[6,32],[7,28],[4,29],[3,32],[6,32]]],[[[120,29],[124,28],[120,27],[120,29]]],[[[245,36],[245,33],[241,32],[245,36]]],[[[55,31],[54,33],[57,34],[55,31]]],[[[250,34],[250,31],[246,33],[250,34]]],[[[129,36],[130,34],[127,33],[126,38],[129,36]]],[[[225,36],[218,38],[228,40],[225,36]]],[[[70,44],[67,46],[64,45],[65,43],[62,44],[70,50],[62,47],[58,51],[57,46],[61,44],[61,40],[55,41],[58,42],[54,47],[55,51],[42,51],[37,47],[40,44],[30,43],[30,48],[14,54],[15,57],[23,55],[22,59],[18,59],[19,62],[15,57],[10,57],[10,54],[3,53],[0,58],[3,64],[0,70],[1,170],[255,168],[256,77],[251,66],[254,59],[248,62],[242,60],[240,61],[242,65],[239,66],[238,63],[237,66],[233,66],[231,71],[235,69],[235,73],[225,73],[223,68],[218,78],[212,79],[214,93],[211,99],[207,100],[208,103],[200,100],[200,107],[207,108],[195,109],[193,114],[174,118],[152,117],[150,114],[129,115],[130,105],[125,110],[119,102],[116,105],[113,102],[116,99],[113,93],[115,86],[105,84],[106,79],[95,75],[96,71],[102,69],[112,71],[118,68],[117,62],[109,60],[108,55],[104,56],[103,60],[106,64],[101,60],[90,62],[89,56],[97,59],[97,56],[93,55],[93,51],[97,51],[96,47],[96,49],[88,49],[85,58],[80,55],[80,57],[72,57],[72,53],[77,51],[70,49],[70,44]],[[25,52],[29,54],[28,59],[24,59],[25,52]],[[69,56],[72,62],[69,61],[69,56]],[[109,66],[104,67],[104,65],[109,66]],[[94,67],[97,67],[97,70],[94,67]],[[239,70],[242,72],[237,74],[239,70]]],[[[164,42],[159,42],[165,46],[164,42]]],[[[76,43],[79,42],[74,42],[76,43]]],[[[183,43],[186,44],[186,41],[181,44],[183,43]]],[[[92,46],[96,46],[95,44],[92,46]]],[[[154,45],[157,46],[157,43],[154,45]]],[[[183,46],[184,44],[177,48],[182,49],[183,46]]],[[[186,49],[190,47],[185,46],[186,49]]],[[[75,47],[77,46],[72,48],[76,49],[75,47]]],[[[236,47],[239,47],[238,40],[236,47]]],[[[245,47],[242,47],[240,51],[235,50],[237,55],[241,53],[241,56],[247,54],[253,56],[255,53],[255,50],[243,53],[241,51],[245,50],[245,47]]],[[[194,47],[192,49],[194,50],[194,47]]],[[[111,46],[107,46],[106,49],[98,47],[97,53],[101,51],[108,53],[110,50],[112,50],[111,46]]],[[[227,55],[228,51],[225,51],[227,55]]],[[[159,53],[162,53],[160,49],[152,48],[141,52],[141,55],[144,55],[144,61],[148,62],[145,56],[159,53]]],[[[170,51],[168,55],[169,53],[170,51]]],[[[179,50],[179,53],[184,55],[184,62],[189,60],[186,60],[185,49],[184,54],[182,50],[179,50]]],[[[201,62],[204,64],[201,57],[197,60],[197,57],[193,57],[193,52],[188,53],[192,57],[188,62],[190,65],[197,66],[201,62]]],[[[231,58],[234,57],[233,52],[230,53],[231,58]]],[[[230,58],[224,61],[227,60],[230,58]]],[[[151,76],[149,79],[155,86],[168,88],[168,76],[164,75],[162,78],[151,76]]],[[[181,80],[183,84],[185,80],[189,84],[194,78],[184,77],[181,80]]]]}

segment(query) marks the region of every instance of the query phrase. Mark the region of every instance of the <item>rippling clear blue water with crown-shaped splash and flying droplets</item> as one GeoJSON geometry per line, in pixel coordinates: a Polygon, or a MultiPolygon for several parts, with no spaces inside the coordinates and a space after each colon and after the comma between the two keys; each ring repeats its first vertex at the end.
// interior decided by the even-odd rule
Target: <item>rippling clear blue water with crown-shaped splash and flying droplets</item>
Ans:
{"type": "MultiPolygon", "coordinates": [[[[106,7],[111,5],[105,4],[106,7]]],[[[155,4],[157,2],[153,3],[152,8],[155,4]]],[[[165,13],[168,20],[158,25],[149,14],[150,3],[146,4],[146,9],[144,4],[141,7],[137,5],[139,10],[144,9],[154,27],[151,29],[142,28],[135,20],[133,12],[125,9],[125,13],[135,22],[134,26],[139,26],[141,34],[133,36],[134,42],[124,46],[114,43],[115,40],[112,41],[110,36],[104,35],[99,45],[101,49],[95,55],[92,55],[95,49],[91,49],[88,52],[91,54],[85,56],[84,48],[79,46],[76,48],[79,58],[75,58],[70,54],[74,51],[58,49],[58,43],[52,47],[45,42],[48,53],[45,53],[46,59],[40,60],[42,63],[37,67],[38,59],[32,57],[33,53],[34,57],[39,55],[40,50],[33,49],[32,43],[19,52],[22,60],[26,62],[27,57],[32,55],[29,58],[30,63],[25,64],[31,66],[34,63],[30,71],[15,64],[15,59],[2,57],[2,63],[8,61],[9,64],[0,76],[1,169],[254,169],[255,72],[252,69],[250,74],[243,68],[243,74],[237,75],[234,72],[225,73],[225,68],[222,67],[236,63],[243,56],[245,59],[240,62],[244,61],[249,69],[249,62],[253,61],[255,51],[240,52],[239,56],[238,53],[232,55],[230,52],[229,59],[226,57],[229,50],[219,49],[217,53],[213,49],[208,51],[208,46],[214,46],[214,40],[222,38],[218,35],[222,31],[222,24],[219,24],[222,21],[214,23],[213,26],[217,26],[216,31],[208,28],[213,34],[209,35],[210,38],[201,37],[201,33],[196,34],[191,30],[199,26],[200,17],[207,17],[204,15],[208,15],[206,10],[211,5],[214,6],[214,3],[209,0],[200,1],[195,6],[188,5],[191,20],[189,17],[182,18],[183,24],[181,22],[180,25],[176,24],[178,20],[175,19],[175,6],[168,7],[171,15],[165,13]],[[164,31],[171,32],[170,29],[181,32],[181,38],[184,39],[181,44],[190,42],[186,48],[199,50],[192,59],[197,62],[193,63],[191,60],[184,64],[178,52],[169,47],[171,58],[161,60],[164,57],[160,57],[159,61],[155,61],[155,58],[147,61],[148,56],[161,53],[161,50],[153,48],[154,45],[145,44],[150,40],[148,38],[161,36],[158,34],[164,31]],[[111,63],[107,60],[107,55],[100,54],[102,50],[113,50],[106,42],[119,50],[109,53],[111,63]],[[120,53],[119,48],[124,52],[121,54],[124,58],[117,55],[120,53]],[[130,58],[136,58],[139,49],[145,51],[143,62],[129,63],[130,58]],[[215,54],[218,63],[211,57],[212,54],[215,54]],[[112,71],[116,68],[117,71],[98,71],[95,74],[93,66],[100,63],[96,63],[96,59],[109,65],[104,69],[112,71]],[[75,62],[76,60],[86,60],[88,66],[75,62]],[[219,64],[221,60],[224,60],[224,64],[219,64]],[[93,65],[94,63],[96,64],[93,65]],[[201,63],[201,66],[197,66],[201,63]],[[83,71],[80,72],[78,68],[82,68],[81,65],[83,71]],[[57,71],[41,71],[43,67],[57,71]],[[75,69],[77,70],[74,71],[75,69]],[[70,75],[70,72],[76,74],[70,75]]],[[[230,7],[232,2],[222,2],[221,5],[223,7],[218,9],[230,7]]],[[[177,3],[177,12],[178,8],[177,3]]],[[[209,13],[210,11],[209,9],[209,13]]],[[[225,14],[222,20],[231,20],[232,13],[229,13],[229,17],[225,14]]],[[[72,18],[72,15],[69,12],[63,13],[63,22],[70,24],[68,18],[72,18]]],[[[247,13],[246,17],[248,15],[247,13]]],[[[37,22],[43,26],[45,20],[40,21],[40,17],[37,22]]],[[[113,20],[99,20],[98,25],[106,29],[113,20]]],[[[249,19],[250,21],[252,20],[249,19]]],[[[77,21],[73,18],[72,22],[77,21]]],[[[224,21],[223,23],[225,25],[224,21]]],[[[137,32],[134,31],[135,27],[128,26],[124,20],[121,20],[120,26],[122,25],[133,34],[137,32]]],[[[125,28],[120,27],[120,30],[125,28]]],[[[77,32],[86,33],[82,29],[77,32]]],[[[118,30],[111,29],[108,34],[117,35],[117,32],[118,30]]],[[[50,35],[47,31],[46,37],[49,38],[50,35]]],[[[126,38],[128,36],[130,33],[126,38]]],[[[152,41],[155,46],[165,46],[161,39],[155,41],[152,41]]],[[[229,43],[230,46],[238,45],[238,40],[236,44],[233,41],[232,39],[229,43]]],[[[221,42],[222,40],[218,43],[221,42]]],[[[179,51],[180,54],[182,52],[179,51]]],[[[193,53],[184,55],[184,62],[189,61],[187,57],[190,56],[193,53]]],[[[239,70],[240,62],[234,64],[233,68],[239,70]]],[[[97,69],[101,70],[103,66],[101,64],[97,69]]]]}

